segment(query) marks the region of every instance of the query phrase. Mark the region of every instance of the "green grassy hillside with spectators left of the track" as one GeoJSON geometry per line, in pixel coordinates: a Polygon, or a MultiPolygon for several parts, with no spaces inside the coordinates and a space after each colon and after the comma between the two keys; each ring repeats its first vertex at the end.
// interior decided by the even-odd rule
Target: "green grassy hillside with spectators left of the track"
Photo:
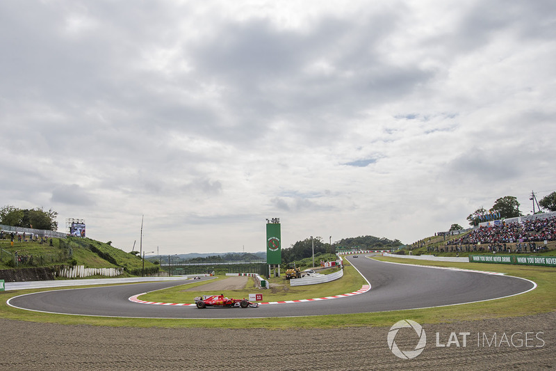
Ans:
{"type": "MultiPolygon", "coordinates": [[[[90,238],[53,238],[51,246],[50,241],[41,244],[40,240],[18,242],[17,239],[12,245],[8,237],[0,240],[0,248],[0,269],[84,265],[87,268],[124,267],[131,275],[140,275],[142,269],[140,257],[90,238]]],[[[145,261],[145,273],[154,271],[158,271],[158,266],[145,261]]]]}

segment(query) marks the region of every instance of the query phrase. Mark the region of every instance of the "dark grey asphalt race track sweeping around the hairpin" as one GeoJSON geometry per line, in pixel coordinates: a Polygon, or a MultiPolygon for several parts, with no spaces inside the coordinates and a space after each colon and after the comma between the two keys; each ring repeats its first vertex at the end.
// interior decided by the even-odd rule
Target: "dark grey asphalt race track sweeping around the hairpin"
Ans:
{"type": "MultiPolygon", "coordinates": [[[[133,303],[129,297],[192,281],[136,283],[54,290],[14,297],[10,306],[68,315],[141,318],[248,318],[369,313],[447,306],[507,297],[532,290],[531,281],[474,271],[437,269],[349,258],[369,281],[371,290],[339,299],[265,304],[259,308],[206,308],[133,303]]],[[[488,269],[485,265],[485,269],[488,269]]],[[[264,292],[263,292],[264,294],[264,292]]],[[[312,299],[312,298],[306,298],[312,299]]],[[[184,294],[183,302],[193,302],[184,294]]]]}

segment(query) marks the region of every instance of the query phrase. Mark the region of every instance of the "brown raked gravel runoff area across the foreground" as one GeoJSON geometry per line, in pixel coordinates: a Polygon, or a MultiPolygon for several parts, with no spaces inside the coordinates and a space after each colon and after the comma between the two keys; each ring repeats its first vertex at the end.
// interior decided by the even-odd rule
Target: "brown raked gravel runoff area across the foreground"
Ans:
{"type": "MultiPolygon", "coordinates": [[[[423,329],[425,349],[416,358],[403,360],[389,349],[386,339],[390,327],[139,329],[0,319],[0,370],[556,368],[556,312],[424,324],[423,329]]],[[[400,329],[395,342],[404,351],[413,350],[418,336],[411,328],[400,329]]]]}

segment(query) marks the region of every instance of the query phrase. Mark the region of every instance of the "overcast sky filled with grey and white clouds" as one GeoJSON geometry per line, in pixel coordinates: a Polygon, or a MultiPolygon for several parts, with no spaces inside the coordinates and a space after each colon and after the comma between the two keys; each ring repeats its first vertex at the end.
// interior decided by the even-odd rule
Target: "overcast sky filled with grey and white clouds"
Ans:
{"type": "Polygon", "coordinates": [[[554,1],[0,2],[0,206],[131,251],[410,244],[556,189],[554,1]]]}

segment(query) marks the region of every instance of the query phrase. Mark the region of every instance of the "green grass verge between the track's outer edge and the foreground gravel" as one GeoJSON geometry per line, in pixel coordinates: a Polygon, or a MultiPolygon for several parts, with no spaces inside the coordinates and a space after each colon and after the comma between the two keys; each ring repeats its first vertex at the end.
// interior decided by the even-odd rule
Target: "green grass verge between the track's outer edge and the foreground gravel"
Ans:
{"type": "MultiPolygon", "coordinates": [[[[430,261],[407,261],[401,258],[377,258],[404,264],[458,267],[483,271],[498,271],[511,276],[528,278],[537,283],[536,290],[505,299],[480,303],[445,306],[440,308],[395,310],[380,313],[354,315],[323,315],[315,317],[288,317],[263,319],[129,319],[108,317],[81,317],[74,315],[51,315],[18,310],[7,306],[6,300],[24,292],[0,292],[0,317],[35,322],[61,324],[90,324],[96,326],[136,326],[167,328],[263,328],[263,329],[309,329],[336,328],[347,326],[391,326],[400,319],[414,319],[420,324],[480,320],[493,317],[516,317],[548,313],[556,309],[556,269],[549,267],[500,266],[479,263],[443,263],[430,261]]],[[[346,269],[346,273],[349,269],[346,269]]],[[[204,283],[195,283],[195,285],[204,283]]],[[[357,287],[359,289],[359,287],[357,287]]],[[[44,290],[26,290],[38,292],[44,290]]],[[[349,292],[349,291],[345,291],[349,292]]],[[[330,293],[332,294],[332,293],[330,293]]],[[[317,297],[318,295],[309,295],[317,297]]],[[[328,296],[328,295],[323,295],[328,296]]],[[[304,299],[308,299],[305,297],[304,299]]],[[[341,300],[341,299],[338,299],[341,300]]],[[[295,309],[295,304],[291,304],[295,309]]],[[[256,309],[254,309],[256,310],[256,309]]],[[[255,313],[256,314],[256,313],[255,313]]],[[[295,313],[293,313],[295,314],[295,313]]]]}

